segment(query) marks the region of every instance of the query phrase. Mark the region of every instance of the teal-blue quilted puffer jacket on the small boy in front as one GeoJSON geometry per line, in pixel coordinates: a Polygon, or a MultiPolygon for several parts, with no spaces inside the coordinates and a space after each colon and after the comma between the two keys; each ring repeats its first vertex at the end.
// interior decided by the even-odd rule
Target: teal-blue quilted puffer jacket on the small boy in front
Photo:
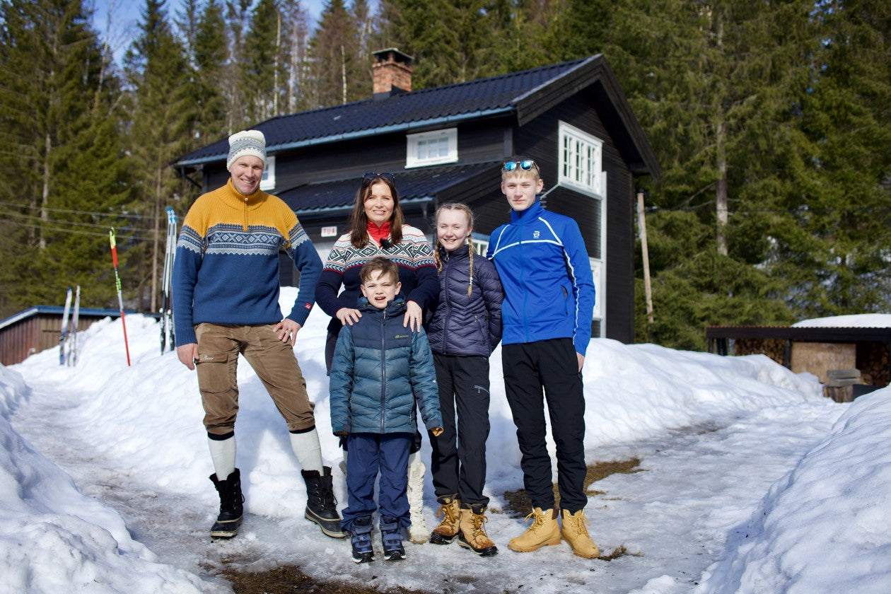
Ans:
{"type": "Polygon", "coordinates": [[[340,330],[331,364],[331,429],[345,433],[414,433],[415,398],[424,425],[442,427],[433,355],[424,330],[403,328],[405,298],[386,309],[364,297],[352,326],[340,330]]]}

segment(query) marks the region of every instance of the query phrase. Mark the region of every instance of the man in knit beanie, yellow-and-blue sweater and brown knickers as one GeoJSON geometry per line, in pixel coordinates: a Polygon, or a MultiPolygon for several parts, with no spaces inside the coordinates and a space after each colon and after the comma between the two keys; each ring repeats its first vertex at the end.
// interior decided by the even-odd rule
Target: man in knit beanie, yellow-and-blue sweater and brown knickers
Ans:
{"type": "Polygon", "coordinates": [[[293,346],[313,307],[322,261],[281,199],[260,190],[266,138],[257,130],[229,137],[225,186],[203,194],[185,216],[173,278],[176,354],[198,370],[220,513],[210,529],[232,538],[241,525],[241,473],[235,468],[236,367],[239,354],[263,381],[290,431],[307,484],[305,517],[334,538],[340,528],[331,468],[322,465],[313,403],[293,346]],[[279,249],[300,271],[298,297],[282,318],[279,249]]]}

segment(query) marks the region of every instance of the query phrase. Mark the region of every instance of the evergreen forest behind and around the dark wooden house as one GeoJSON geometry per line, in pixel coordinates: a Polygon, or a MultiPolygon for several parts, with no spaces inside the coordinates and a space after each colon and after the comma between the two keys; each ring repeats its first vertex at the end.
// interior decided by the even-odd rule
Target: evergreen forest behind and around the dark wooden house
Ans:
{"type": "MultiPolygon", "coordinates": [[[[157,311],[168,163],[266,118],[366,99],[372,55],[413,88],[602,53],[663,175],[644,179],[653,322],[638,257],[635,339],[703,349],[710,324],[891,312],[887,0],[140,2],[120,52],[85,0],[0,0],[0,319],[157,311]]],[[[640,256],[640,245],[638,256],[640,256]]]]}

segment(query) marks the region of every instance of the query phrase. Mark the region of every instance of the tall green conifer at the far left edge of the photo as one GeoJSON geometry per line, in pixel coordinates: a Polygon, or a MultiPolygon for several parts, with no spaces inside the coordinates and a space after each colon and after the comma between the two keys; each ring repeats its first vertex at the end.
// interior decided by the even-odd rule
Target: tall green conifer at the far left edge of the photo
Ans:
{"type": "Polygon", "coordinates": [[[79,0],[0,4],[0,163],[16,172],[0,188],[0,315],[73,284],[85,305],[113,295],[97,263],[122,220],[126,157],[118,79],[88,17],[79,0]]]}

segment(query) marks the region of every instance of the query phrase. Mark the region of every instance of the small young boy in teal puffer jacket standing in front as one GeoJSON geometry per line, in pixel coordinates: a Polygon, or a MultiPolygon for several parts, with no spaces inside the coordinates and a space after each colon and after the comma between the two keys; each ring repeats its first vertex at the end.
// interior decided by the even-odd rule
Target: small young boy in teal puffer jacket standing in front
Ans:
{"type": "Polygon", "coordinates": [[[375,257],[362,267],[362,312],[340,330],[331,364],[331,428],[347,435],[347,495],[343,529],[352,533],[353,560],[374,560],[372,514],[380,511],[384,557],[404,559],[402,529],[412,524],[406,495],[415,398],[430,433],[442,433],[439,393],[427,335],[403,327],[405,298],[396,264],[375,257]],[[378,505],[374,481],[380,472],[378,505]]]}

